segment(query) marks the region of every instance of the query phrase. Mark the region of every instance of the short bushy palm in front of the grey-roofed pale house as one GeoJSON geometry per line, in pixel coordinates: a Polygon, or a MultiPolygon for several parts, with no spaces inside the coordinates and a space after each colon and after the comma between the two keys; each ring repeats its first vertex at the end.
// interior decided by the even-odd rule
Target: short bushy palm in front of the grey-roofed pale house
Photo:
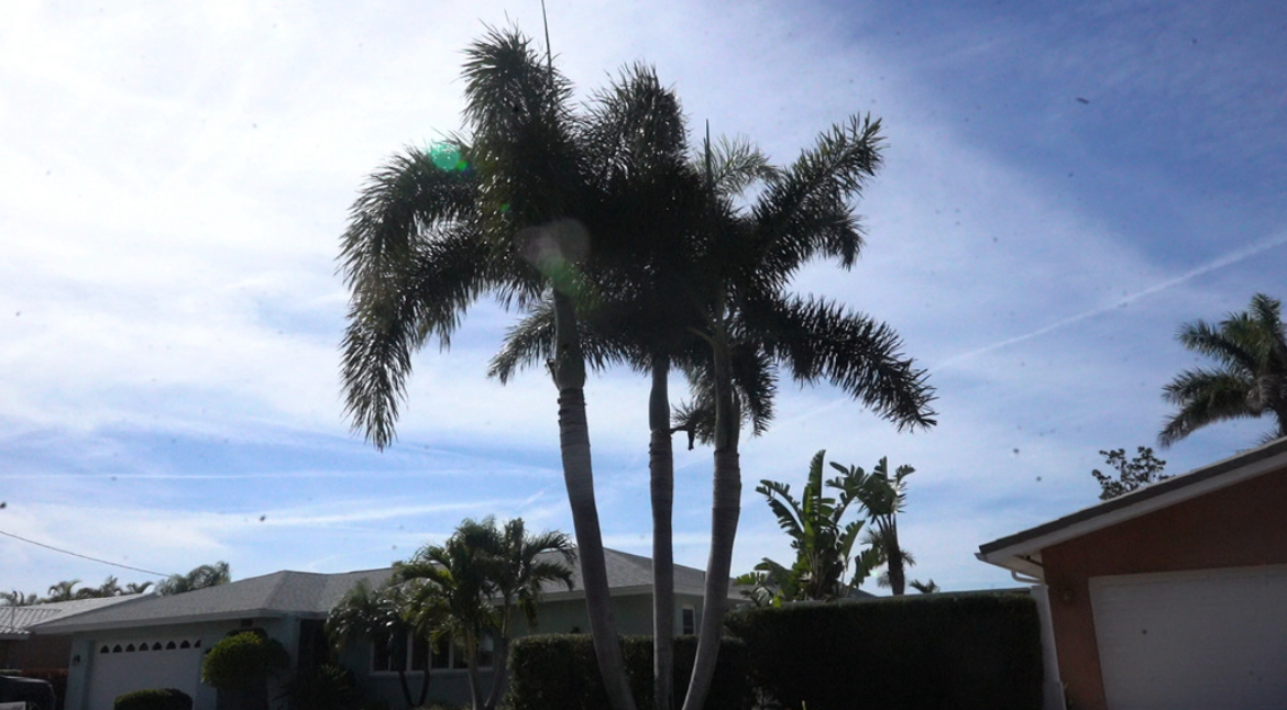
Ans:
{"type": "Polygon", "coordinates": [[[435,643],[458,642],[463,650],[474,710],[493,710],[505,684],[512,614],[535,623],[541,588],[550,581],[571,589],[571,544],[561,532],[526,535],[521,518],[497,527],[494,518],[465,520],[441,545],[421,548],[394,569],[404,588],[405,619],[435,643]],[[562,563],[547,553],[562,557],[562,563]],[[492,688],[483,692],[479,653],[493,641],[492,688]]]}

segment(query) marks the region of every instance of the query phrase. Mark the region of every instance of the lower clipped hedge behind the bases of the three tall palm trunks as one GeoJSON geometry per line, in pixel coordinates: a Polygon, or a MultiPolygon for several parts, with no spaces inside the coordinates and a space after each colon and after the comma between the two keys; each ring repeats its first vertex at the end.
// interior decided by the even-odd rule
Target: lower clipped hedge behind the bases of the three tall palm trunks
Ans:
{"type": "MultiPolygon", "coordinates": [[[[676,707],[689,687],[696,647],[696,637],[680,637],[674,642],[676,707]]],[[[622,652],[638,706],[651,707],[653,638],[623,637],[622,652]]],[[[746,669],[745,644],[723,639],[705,710],[748,710],[752,696],[746,669]]],[[[510,704],[514,710],[607,707],[589,635],[544,634],[515,641],[510,651],[510,704]]]]}

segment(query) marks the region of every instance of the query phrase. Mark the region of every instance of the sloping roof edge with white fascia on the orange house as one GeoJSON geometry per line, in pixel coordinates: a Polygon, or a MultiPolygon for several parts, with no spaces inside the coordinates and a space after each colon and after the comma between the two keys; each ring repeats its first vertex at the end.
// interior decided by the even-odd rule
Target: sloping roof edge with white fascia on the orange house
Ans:
{"type": "Polygon", "coordinates": [[[1125,495],[1084,508],[978,547],[983,562],[1044,578],[1041,551],[1162,508],[1287,468],[1287,439],[1279,439],[1125,495]]]}

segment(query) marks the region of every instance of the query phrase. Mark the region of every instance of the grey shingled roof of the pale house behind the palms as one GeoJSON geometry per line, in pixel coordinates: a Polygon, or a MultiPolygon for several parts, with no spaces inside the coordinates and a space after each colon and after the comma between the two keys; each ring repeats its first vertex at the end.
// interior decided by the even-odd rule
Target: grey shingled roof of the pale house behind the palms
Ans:
{"type": "MultiPolygon", "coordinates": [[[[650,592],[653,561],[638,554],[614,549],[604,551],[607,583],[614,594],[650,592]]],[[[88,630],[160,626],[232,619],[265,619],[277,616],[323,617],[358,581],[378,587],[389,579],[391,569],[358,572],[322,574],[282,571],[257,578],[196,589],[183,594],[158,597],[147,594],[130,603],[86,612],[72,619],[54,619],[33,628],[39,634],[71,634],[88,630]]],[[[705,572],[676,565],[674,590],[680,594],[703,592],[705,572]]],[[[546,598],[583,596],[580,566],[573,565],[573,590],[547,584],[546,598]]]]}

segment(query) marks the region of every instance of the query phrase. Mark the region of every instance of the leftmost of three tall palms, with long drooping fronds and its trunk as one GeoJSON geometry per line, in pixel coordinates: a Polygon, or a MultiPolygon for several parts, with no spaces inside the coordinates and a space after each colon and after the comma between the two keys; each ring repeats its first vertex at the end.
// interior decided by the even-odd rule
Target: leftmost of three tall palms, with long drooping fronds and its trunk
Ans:
{"type": "Polygon", "coordinates": [[[454,157],[445,161],[418,150],[395,158],[354,205],[341,253],[353,291],[347,413],[377,448],[389,445],[417,349],[430,337],[448,345],[461,314],[484,293],[519,307],[546,300],[591,633],[613,707],[631,710],[593,496],[578,306],[596,296],[588,275],[627,261],[651,234],[623,228],[640,203],[631,196],[650,185],[614,168],[624,149],[613,145],[629,138],[625,123],[610,113],[575,116],[568,82],[525,37],[490,31],[467,54],[470,141],[453,139],[454,157]]]}

